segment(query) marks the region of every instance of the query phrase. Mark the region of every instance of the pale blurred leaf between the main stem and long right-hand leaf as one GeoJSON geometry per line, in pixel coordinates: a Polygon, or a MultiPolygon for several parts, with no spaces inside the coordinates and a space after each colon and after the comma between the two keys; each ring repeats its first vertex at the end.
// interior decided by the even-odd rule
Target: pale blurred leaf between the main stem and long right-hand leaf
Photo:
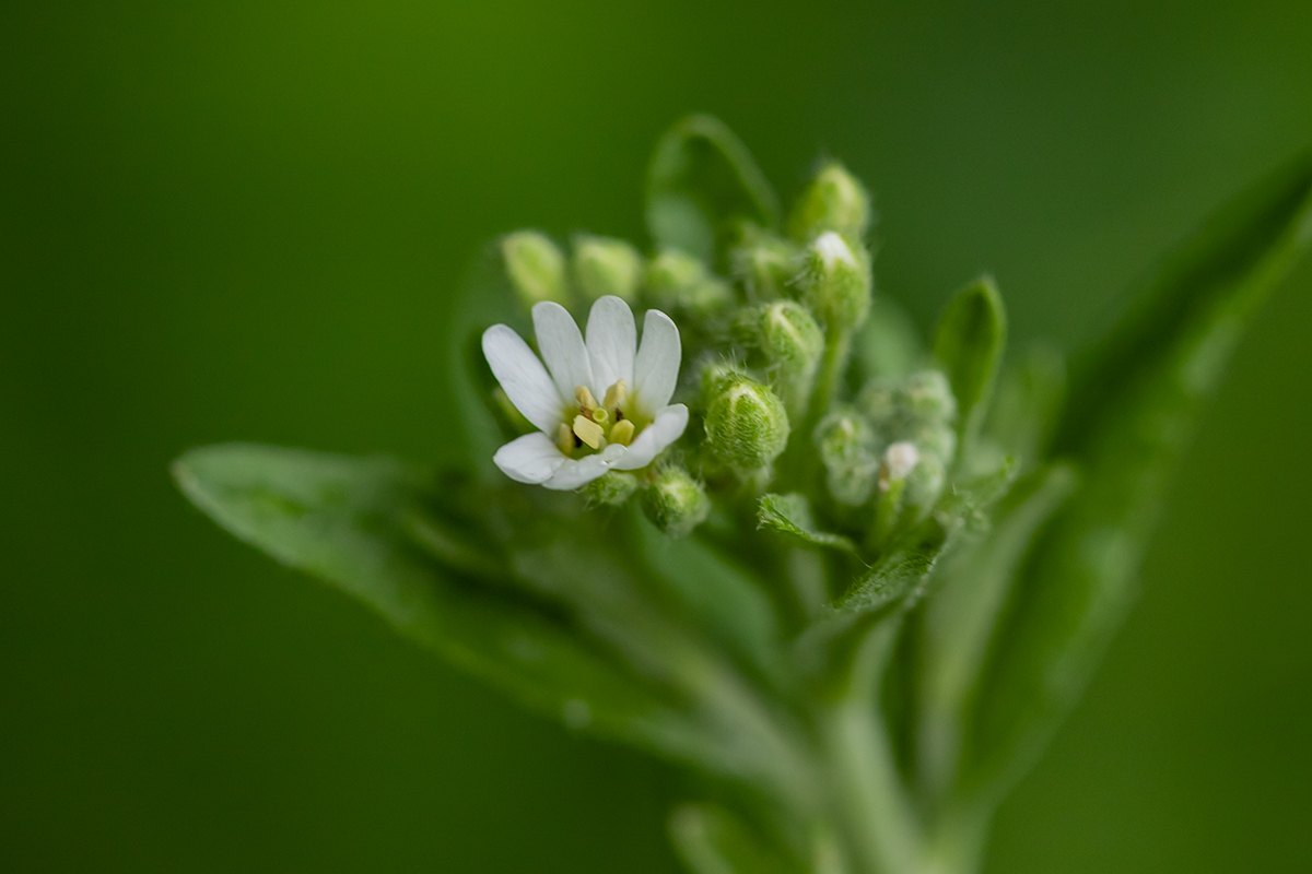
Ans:
{"type": "Polygon", "coordinates": [[[1025,477],[993,511],[987,536],[958,540],[934,569],[925,601],[917,696],[918,776],[932,797],[950,786],[962,726],[975,702],[984,655],[996,633],[1017,569],[1035,532],[1076,487],[1069,465],[1052,465],[1025,477]]]}

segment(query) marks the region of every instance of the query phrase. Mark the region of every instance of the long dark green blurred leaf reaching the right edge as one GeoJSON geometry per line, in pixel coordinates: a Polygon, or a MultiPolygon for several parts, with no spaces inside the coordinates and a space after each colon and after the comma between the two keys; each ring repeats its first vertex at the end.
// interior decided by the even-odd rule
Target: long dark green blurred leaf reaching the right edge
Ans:
{"type": "Polygon", "coordinates": [[[1077,368],[1056,443],[1086,472],[1026,562],[981,688],[971,790],[992,803],[1075,702],[1134,596],[1199,402],[1257,305],[1312,240],[1312,155],[1219,212],[1077,368]]]}

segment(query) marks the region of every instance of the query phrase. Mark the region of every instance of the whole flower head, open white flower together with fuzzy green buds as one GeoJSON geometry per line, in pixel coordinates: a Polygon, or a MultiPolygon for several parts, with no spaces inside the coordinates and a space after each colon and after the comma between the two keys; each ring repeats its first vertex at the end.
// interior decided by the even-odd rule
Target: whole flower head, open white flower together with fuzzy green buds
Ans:
{"type": "Polygon", "coordinates": [[[585,487],[592,504],[642,490],[672,535],[705,520],[715,494],[768,487],[867,536],[924,514],[955,451],[955,401],[938,371],[888,367],[878,326],[863,330],[871,215],[861,183],[828,164],[787,236],[739,221],[715,257],[665,246],[644,258],[597,236],[565,254],[537,231],[502,237],[537,352],[506,325],[483,334],[492,373],[534,428],[501,447],[497,466],[585,487]],[[571,309],[589,304],[580,332],[571,309]],[[640,342],[634,307],[646,308],[640,342]]]}

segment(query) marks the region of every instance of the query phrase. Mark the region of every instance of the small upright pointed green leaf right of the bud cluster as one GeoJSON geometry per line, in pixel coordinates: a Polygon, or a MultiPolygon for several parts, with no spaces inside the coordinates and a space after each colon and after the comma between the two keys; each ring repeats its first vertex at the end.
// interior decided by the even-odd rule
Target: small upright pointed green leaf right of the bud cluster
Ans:
{"type": "Polygon", "coordinates": [[[992,276],[981,276],[947,303],[934,333],[934,358],[956,396],[958,430],[975,434],[988,409],[1006,345],[1006,312],[992,276]]]}

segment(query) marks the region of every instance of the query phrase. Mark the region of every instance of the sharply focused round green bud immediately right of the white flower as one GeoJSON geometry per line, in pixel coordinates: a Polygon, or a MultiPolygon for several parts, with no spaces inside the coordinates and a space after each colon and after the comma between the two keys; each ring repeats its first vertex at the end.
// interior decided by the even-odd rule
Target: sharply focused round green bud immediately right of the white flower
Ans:
{"type": "Polygon", "coordinates": [[[720,379],[706,405],[706,442],[741,474],[766,468],[789,442],[789,413],[768,387],[747,376],[720,379]]]}

